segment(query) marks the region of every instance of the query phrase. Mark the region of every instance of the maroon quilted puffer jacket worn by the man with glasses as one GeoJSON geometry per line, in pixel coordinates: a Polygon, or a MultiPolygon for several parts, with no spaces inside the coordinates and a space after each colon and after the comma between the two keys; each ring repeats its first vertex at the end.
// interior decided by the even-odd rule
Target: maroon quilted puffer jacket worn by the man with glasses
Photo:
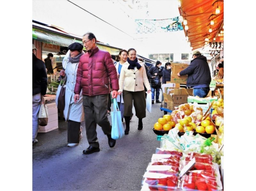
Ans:
{"type": "Polygon", "coordinates": [[[96,47],[81,56],[76,73],[75,94],[80,94],[81,89],[85,96],[109,94],[110,82],[112,90],[118,91],[116,67],[107,51],[96,47]]]}

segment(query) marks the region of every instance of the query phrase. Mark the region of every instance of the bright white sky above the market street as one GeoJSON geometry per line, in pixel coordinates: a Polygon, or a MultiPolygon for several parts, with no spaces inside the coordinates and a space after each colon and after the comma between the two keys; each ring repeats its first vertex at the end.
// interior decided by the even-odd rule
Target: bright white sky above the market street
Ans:
{"type": "Polygon", "coordinates": [[[101,42],[124,49],[133,47],[145,57],[150,53],[191,52],[184,31],[153,34],[136,34],[135,31],[134,19],[168,19],[179,16],[178,0],[145,0],[140,3],[134,1],[134,4],[129,0],[71,2],[112,26],[67,0],[33,0],[32,18],[77,35],[93,32],[101,42]]]}

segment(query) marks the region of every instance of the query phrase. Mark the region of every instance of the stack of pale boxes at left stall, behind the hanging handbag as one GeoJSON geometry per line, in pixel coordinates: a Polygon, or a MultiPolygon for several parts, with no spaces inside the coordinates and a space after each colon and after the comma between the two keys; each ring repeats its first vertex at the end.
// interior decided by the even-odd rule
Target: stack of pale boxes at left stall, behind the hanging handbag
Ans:
{"type": "Polygon", "coordinates": [[[57,129],[58,126],[58,109],[55,103],[55,95],[45,95],[44,103],[48,108],[48,124],[47,126],[38,126],[38,133],[46,133],[57,129]]]}

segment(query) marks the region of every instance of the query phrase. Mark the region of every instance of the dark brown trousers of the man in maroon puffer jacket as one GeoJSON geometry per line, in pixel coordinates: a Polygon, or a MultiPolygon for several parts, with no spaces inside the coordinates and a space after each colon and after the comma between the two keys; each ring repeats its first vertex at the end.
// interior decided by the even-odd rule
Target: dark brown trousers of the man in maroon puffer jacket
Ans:
{"type": "Polygon", "coordinates": [[[101,126],[105,135],[111,136],[111,126],[107,117],[108,94],[84,96],[84,121],[87,140],[90,146],[99,148],[96,126],[101,126]]]}

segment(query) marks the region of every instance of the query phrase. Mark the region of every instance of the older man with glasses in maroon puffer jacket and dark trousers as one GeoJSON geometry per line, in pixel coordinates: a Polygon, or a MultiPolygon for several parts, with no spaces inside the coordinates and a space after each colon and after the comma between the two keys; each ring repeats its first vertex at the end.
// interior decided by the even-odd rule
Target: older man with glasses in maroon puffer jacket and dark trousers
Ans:
{"type": "Polygon", "coordinates": [[[117,97],[119,85],[116,67],[111,55],[107,51],[99,50],[96,46],[95,35],[92,33],[84,34],[83,43],[87,52],[81,56],[77,68],[74,100],[75,103],[78,101],[82,89],[85,129],[89,142],[89,147],[83,150],[83,154],[91,154],[100,151],[96,132],[97,124],[107,135],[109,147],[114,147],[116,144],[116,140],[111,138],[107,106],[110,83],[113,98],[117,97]]]}

